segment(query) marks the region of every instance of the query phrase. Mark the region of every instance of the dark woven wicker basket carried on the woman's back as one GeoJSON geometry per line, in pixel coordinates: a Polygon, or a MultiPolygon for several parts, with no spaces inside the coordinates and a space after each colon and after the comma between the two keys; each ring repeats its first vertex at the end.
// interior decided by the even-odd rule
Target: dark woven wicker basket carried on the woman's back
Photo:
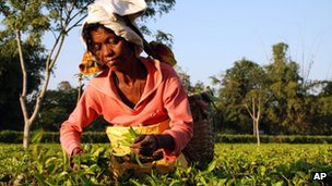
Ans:
{"type": "Polygon", "coordinates": [[[189,97],[193,116],[193,137],[182,150],[190,163],[206,164],[214,157],[214,125],[209,91],[189,97]]]}

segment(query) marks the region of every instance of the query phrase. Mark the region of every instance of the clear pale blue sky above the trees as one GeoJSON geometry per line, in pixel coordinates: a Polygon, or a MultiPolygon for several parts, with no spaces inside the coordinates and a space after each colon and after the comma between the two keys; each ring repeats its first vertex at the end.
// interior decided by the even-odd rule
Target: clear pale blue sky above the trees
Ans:
{"type": "MultiPolygon", "coordinates": [[[[147,27],[173,35],[177,64],[191,83],[205,85],[246,58],[270,64],[272,46],[288,45],[306,79],[332,78],[331,0],[177,0],[168,14],[147,22],[147,27]]],[[[51,44],[49,36],[46,45],[51,44]]],[[[149,40],[149,39],[147,39],[149,40]]],[[[80,28],[66,40],[49,88],[62,80],[78,86],[75,74],[84,52],[80,28]]]]}

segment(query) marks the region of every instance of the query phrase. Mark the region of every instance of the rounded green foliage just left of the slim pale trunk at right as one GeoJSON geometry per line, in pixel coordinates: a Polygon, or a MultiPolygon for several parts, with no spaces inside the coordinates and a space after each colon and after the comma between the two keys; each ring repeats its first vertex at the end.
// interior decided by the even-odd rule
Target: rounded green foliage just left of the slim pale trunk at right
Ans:
{"type": "Polygon", "coordinates": [[[266,99],[265,76],[261,66],[242,59],[226,71],[222,80],[216,82],[221,84],[217,106],[222,111],[220,114],[227,121],[226,127],[236,128],[239,133],[252,132],[249,129],[251,117],[245,106],[250,106],[251,99],[254,98],[261,100],[261,107],[263,107],[266,99]]]}

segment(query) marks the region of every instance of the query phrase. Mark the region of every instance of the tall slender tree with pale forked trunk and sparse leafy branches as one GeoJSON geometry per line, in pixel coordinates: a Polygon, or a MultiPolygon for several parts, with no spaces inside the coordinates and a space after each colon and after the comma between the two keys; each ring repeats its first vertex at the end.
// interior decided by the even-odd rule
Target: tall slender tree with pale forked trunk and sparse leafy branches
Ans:
{"type": "MultiPolygon", "coordinates": [[[[42,100],[46,94],[50,73],[60,54],[63,41],[68,34],[76,27],[86,16],[85,10],[93,0],[5,0],[0,2],[1,14],[4,16],[3,23],[5,33],[15,36],[20,65],[22,70],[22,91],[20,95],[20,104],[24,119],[23,147],[28,147],[31,126],[36,119],[42,100]],[[54,23],[54,24],[50,24],[54,23]],[[46,32],[55,36],[55,42],[50,47],[45,60],[45,74],[43,76],[43,86],[32,97],[35,97],[32,111],[28,110],[27,102],[29,92],[27,91],[27,64],[23,44],[42,47],[42,38],[46,32]]],[[[146,17],[153,17],[156,13],[167,13],[175,4],[175,0],[149,0],[146,17]]],[[[143,17],[144,18],[144,17],[143,17]]],[[[168,36],[168,35],[166,35],[168,36]]],[[[165,38],[165,37],[164,37],[165,38]]]]}

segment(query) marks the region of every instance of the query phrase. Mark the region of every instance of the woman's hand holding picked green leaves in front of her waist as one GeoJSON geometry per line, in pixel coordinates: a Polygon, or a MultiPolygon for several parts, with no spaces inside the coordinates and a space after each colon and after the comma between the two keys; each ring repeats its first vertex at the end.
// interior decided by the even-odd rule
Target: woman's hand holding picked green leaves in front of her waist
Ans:
{"type": "Polygon", "coordinates": [[[159,149],[158,138],[155,135],[140,135],[134,139],[134,144],[130,148],[138,154],[152,157],[159,149]]]}

